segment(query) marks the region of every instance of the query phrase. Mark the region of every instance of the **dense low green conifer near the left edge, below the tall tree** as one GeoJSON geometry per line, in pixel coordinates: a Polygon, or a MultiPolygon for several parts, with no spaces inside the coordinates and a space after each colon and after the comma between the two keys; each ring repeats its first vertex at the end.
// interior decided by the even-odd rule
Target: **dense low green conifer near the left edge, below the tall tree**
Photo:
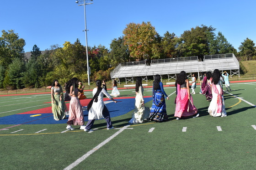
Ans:
{"type": "Polygon", "coordinates": [[[4,80],[4,88],[19,89],[23,88],[22,77],[25,71],[24,62],[20,58],[14,58],[8,66],[4,80]]]}

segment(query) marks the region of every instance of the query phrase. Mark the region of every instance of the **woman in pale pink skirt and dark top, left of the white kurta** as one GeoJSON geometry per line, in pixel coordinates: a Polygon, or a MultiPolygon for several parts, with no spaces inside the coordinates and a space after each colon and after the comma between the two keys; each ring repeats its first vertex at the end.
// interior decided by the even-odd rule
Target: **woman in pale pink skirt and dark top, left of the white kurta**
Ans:
{"type": "MultiPolygon", "coordinates": [[[[84,113],[78,99],[78,79],[72,78],[66,83],[66,93],[69,93],[71,100],[69,103],[69,121],[66,129],[74,130],[71,125],[80,125],[80,129],[85,129],[84,113]]],[[[80,91],[82,92],[82,91],[80,91]]]]}

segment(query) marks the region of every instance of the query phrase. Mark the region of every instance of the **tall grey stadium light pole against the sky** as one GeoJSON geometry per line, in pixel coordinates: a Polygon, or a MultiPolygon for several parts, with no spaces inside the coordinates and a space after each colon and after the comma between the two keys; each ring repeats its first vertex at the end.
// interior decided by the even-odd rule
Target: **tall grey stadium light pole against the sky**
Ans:
{"type": "MultiPolygon", "coordinates": [[[[84,12],[85,12],[85,5],[93,4],[93,0],[76,0],[75,3],[78,6],[84,5],[84,12]]],[[[90,86],[90,67],[89,67],[89,58],[88,58],[88,46],[87,46],[87,28],[86,28],[86,14],[85,14],[85,46],[86,46],[86,60],[87,60],[87,75],[88,75],[88,86],[90,86]]]]}

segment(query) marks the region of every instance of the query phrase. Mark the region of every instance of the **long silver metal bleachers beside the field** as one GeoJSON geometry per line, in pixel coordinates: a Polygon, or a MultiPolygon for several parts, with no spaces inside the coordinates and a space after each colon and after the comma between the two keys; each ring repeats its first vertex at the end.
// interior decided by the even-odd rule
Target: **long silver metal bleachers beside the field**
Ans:
{"type": "Polygon", "coordinates": [[[239,62],[233,53],[204,56],[203,62],[198,62],[198,57],[180,57],[152,60],[147,66],[145,61],[120,63],[112,72],[111,78],[119,82],[119,78],[125,78],[127,82],[133,82],[133,77],[142,77],[147,81],[147,76],[156,74],[168,75],[168,79],[176,79],[176,74],[181,71],[187,72],[190,77],[192,73],[230,70],[231,75],[239,75],[239,62]]]}

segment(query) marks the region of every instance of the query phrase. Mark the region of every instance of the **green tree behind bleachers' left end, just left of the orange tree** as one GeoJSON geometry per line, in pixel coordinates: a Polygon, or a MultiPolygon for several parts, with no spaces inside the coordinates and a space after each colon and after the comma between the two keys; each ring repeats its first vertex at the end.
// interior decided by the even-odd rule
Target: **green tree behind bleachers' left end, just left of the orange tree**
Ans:
{"type": "Polygon", "coordinates": [[[124,45],[123,36],[115,38],[110,44],[111,65],[116,67],[120,62],[129,62],[129,49],[127,45],[124,45]]]}

